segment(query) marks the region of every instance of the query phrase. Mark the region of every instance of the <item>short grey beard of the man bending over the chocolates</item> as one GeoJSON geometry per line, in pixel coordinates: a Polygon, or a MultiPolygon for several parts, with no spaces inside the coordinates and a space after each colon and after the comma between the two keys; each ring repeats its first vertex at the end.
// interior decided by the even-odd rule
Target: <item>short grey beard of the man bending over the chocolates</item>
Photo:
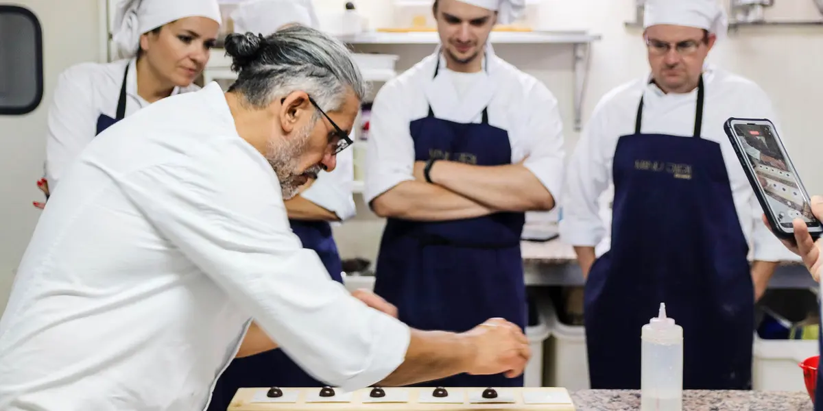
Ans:
{"type": "Polygon", "coordinates": [[[309,136],[311,136],[313,129],[314,124],[309,124],[297,132],[295,138],[272,139],[268,142],[266,159],[268,160],[268,164],[272,166],[274,173],[277,174],[277,180],[280,181],[283,200],[291,199],[300,191],[302,182],[298,182],[297,178],[301,174],[319,173],[321,170],[319,165],[314,165],[305,171],[297,169],[300,155],[304,154],[306,146],[309,145],[309,136]]]}

